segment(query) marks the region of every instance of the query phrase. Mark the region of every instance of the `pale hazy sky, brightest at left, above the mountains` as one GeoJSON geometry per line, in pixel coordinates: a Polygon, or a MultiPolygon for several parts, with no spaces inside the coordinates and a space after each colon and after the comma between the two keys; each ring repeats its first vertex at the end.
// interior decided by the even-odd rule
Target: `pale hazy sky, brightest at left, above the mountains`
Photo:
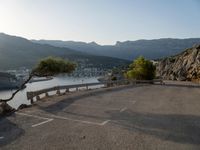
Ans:
{"type": "Polygon", "coordinates": [[[200,0],[0,0],[0,32],[28,39],[200,37],[200,0]]]}

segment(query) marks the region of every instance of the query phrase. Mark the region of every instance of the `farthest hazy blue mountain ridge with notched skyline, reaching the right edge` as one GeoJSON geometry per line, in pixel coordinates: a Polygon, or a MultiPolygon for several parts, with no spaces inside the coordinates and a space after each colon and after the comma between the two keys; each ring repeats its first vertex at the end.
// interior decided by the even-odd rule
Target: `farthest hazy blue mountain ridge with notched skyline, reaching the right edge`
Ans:
{"type": "Polygon", "coordinates": [[[49,44],[57,47],[68,47],[93,55],[110,56],[133,60],[143,55],[148,59],[158,59],[180,53],[186,48],[200,44],[200,38],[190,39],[155,39],[117,42],[115,45],[98,45],[95,42],[84,43],[74,41],[33,40],[35,43],[49,44]]]}

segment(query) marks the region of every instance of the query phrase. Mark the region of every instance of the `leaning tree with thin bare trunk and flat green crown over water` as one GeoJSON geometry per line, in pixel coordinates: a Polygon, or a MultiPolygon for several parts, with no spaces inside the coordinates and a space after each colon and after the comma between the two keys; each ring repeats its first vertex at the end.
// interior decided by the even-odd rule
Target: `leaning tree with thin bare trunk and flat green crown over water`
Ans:
{"type": "Polygon", "coordinates": [[[17,89],[10,98],[0,99],[0,102],[8,102],[14,98],[14,96],[21,91],[24,86],[31,80],[32,77],[47,77],[54,76],[60,73],[71,73],[75,70],[76,64],[65,61],[61,58],[47,57],[42,59],[36,67],[31,71],[28,79],[17,89]]]}

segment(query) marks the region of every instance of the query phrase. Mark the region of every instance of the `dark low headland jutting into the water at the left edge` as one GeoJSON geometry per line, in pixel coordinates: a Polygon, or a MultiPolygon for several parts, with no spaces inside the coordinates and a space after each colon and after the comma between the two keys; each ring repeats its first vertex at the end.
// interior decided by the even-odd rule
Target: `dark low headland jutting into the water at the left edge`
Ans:
{"type": "Polygon", "coordinates": [[[17,78],[14,74],[0,72],[0,90],[19,88],[23,81],[22,78],[17,78]]]}

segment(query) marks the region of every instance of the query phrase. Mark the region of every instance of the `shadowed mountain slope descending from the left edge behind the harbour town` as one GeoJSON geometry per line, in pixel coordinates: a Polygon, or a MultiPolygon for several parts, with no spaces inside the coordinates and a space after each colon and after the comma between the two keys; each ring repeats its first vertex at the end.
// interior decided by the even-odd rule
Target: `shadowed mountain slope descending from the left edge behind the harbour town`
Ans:
{"type": "Polygon", "coordinates": [[[25,38],[0,33],[0,70],[18,67],[33,67],[41,58],[57,56],[81,65],[114,66],[127,64],[128,61],[105,56],[94,56],[70,48],[55,47],[47,44],[33,43],[25,38]]]}

